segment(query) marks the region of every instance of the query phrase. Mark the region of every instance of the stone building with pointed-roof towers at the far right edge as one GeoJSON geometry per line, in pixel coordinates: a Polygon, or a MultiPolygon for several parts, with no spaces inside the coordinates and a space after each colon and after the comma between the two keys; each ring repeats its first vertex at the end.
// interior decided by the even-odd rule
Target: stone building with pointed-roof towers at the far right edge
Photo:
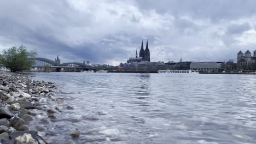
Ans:
{"type": "Polygon", "coordinates": [[[245,55],[243,55],[242,51],[239,51],[237,53],[237,64],[249,65],[252,63],[256,63],[256,50],[253,51],[253,57],[252,57],[252,53],[249,50],[245,52],[245,55]]]}

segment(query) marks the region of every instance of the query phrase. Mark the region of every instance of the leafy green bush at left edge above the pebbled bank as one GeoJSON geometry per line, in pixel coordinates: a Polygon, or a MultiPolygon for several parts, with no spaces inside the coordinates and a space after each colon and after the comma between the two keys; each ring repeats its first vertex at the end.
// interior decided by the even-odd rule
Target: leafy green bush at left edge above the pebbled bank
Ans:
{"type": "Polygon", "coordinates": [[[33,58],[36,55],[36,52],[28,52],[23,45],[13,46],[3,50],[3,54],[0,55],[0,63],[9,68],[11,72],[29,70],[34,64],[33,58]]]}

